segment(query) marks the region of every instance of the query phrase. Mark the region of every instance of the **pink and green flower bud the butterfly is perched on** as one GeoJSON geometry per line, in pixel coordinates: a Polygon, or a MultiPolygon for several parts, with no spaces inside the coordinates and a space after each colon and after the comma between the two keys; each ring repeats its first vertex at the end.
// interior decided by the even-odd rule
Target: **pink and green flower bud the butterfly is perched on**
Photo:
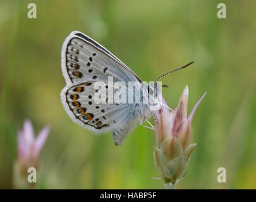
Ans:
{"type": "MultiPolygon", "coordinates": [[[[190,155],[197,146],[197,144],[192,143],[193,115],[205,94],[195,104],[188,118],[188,86],[183,90],[178,106],[174,111],[169,111],[167,107],[163,106],[161,110],[155,112],[157,146],[153,153],[154,162],[166,187],[173,188],[185,175],[190,155]]],[[[164,98],[162,100],[166,105],[164,98]]]]}

